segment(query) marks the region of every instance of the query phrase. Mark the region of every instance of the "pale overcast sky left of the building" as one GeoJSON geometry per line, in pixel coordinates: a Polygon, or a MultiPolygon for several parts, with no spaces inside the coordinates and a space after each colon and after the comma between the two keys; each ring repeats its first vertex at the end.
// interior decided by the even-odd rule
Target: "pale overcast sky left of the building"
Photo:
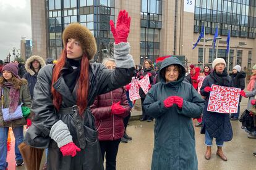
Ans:
{"type": "Polygon", "coordinates": [[[32,39],[30,0],[0,0],[1,60],[13,47],[20,48],[22,36],[32,39]]]}

